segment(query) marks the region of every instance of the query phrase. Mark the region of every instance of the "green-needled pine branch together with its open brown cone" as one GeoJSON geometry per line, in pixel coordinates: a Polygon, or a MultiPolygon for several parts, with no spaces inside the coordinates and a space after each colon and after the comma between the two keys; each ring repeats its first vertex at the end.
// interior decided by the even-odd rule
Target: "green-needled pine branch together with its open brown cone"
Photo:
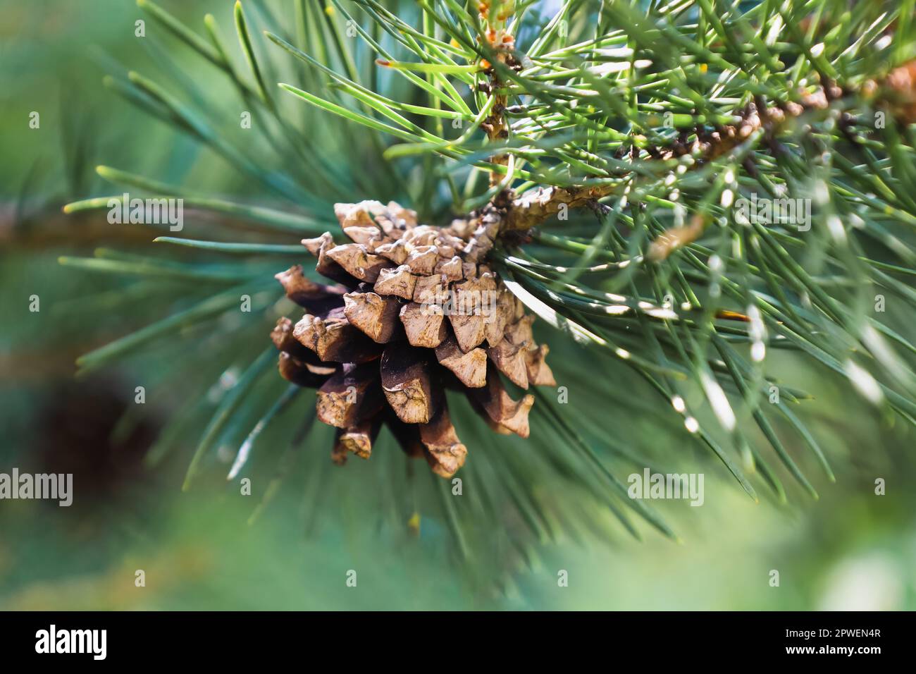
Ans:
{"type": "MultiPolygon", "coordinates": [[[[805,425],[804,382],[769,373],[778,351],[844,378],[856,404],[916,421],[912,0],[250,0],[234,6],[235,48],[226,17],[195,27],[138,6],[152,39],[183,44],[231,90],[214,96],[162,64],[158,79],[119,72],[106,84],[245,186],[203,195],[100,174],[263,233],[157,239],[190,247],[191,260],[67,260],[190,289],[178,313],[87,354],[85,368],[237,313],[250,295],[251,330],[206,352],[245,370],[169,435],[200,434],[189,480],[218,442],[241,447],[237,475],[294,400],[297,387],[262,383],[277,359],[262,353],[271,329],[282,375],[318,390],[335,459],[375,459],[384,423],[435,472],[474,482],[468,505],[440,481],[444,498],[419,506],[442,514],[464,552],[475,523],[512,519],[514,540],[552,537],[581,522],[582,503],[634,533],[635,511],[673,536],[619,473],[628,455],[613,429],[645,415],[754,498],[764,485],[785,499],[785,475],[816,497],[833,479],[831,448],[805,425]],[[254,120],[242,136],[239,110],[254,120]],[[332,284],[289,266],[306,249],[332,284]],[[287,268],[281,299],[273,275],[287,268]],[[428,283],[483,284],[498,321],[422,311],[428,283]],[[625,372],[642,385],[621,396],[625,372]],[[564,392],[620,402],[595,432],[564,392]],[[509,450],[478,435],[465,397],[501,430],[527,436],[530,420],[529,439],[509,450]],[[480,441],[463,444],[455,426],[480,441]]],[[[398,498],[415,478],[392,474],[398,498]]]]}

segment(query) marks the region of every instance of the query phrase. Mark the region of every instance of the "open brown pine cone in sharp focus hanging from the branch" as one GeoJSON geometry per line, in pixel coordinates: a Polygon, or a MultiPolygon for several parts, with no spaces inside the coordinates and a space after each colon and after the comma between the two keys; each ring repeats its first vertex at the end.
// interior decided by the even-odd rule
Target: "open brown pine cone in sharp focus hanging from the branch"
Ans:
{"type": "Polygon", "coordinates": [[[316,388],[318,418],[338,429],[333,461],[368,459],[384,424],[409,456],[452,477],[467,449],[446,388],[466,392],[496,432],[527,437],[534,397],[513,400],[499,373],[523,389],[556,382],[547,346],[534,342],[534,317],[483,262],[499,215],[429,227],[394,202],[334,211],[353,243],[335,245],[325,232],[302,244],[335,283],[310,281],[300,265],[278,273],[306,313],[295,325],[281,318],[271,333],[280,374],[316,388]]]}

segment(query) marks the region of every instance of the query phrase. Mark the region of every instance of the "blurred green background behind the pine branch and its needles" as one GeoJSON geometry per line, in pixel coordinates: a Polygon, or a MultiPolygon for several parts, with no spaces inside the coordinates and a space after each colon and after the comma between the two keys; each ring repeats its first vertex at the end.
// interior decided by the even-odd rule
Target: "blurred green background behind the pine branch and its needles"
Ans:
{"type": "MultiPolygon", "coordinates": [[[[163,5],[198,28],[207,11],[231,25],[229,2],[163,5]]],[[[836,483],[819,479],[817,502],[792,492],[789,505],[753,503],[720,467],[706,470],[702,508],[659,506],[682,545],[648,527],[640,542],[617,526],[615,536],[545,543],[523,558],[502,553],[501,523],[493,523],[481,533],[494,541],[492,554],[460,562],[435,516],[420,513],[419,533],[407,525],[409,512],[402,531],[377,526],[377,494],[344,489],[344,471],[322,473],[334,496],[320,508],[302,498],[297,485],[312,478],[302,466],[263,511],[256,497],[215,479],[181,493],[199,429],[155,468],[143,457],[162,419],[190,404],[191,392],[150,401],[145,415],[134,404],[136,381],[155,379],[168,349],[74,377],[77,356],[142,326],[154,307],[144,304],[142,286],[57,262],[100,246],[129,250],[153,236],[108,225],[104,212],[60,213],[61,204],[110,191],[96,164],[224,193],[251,189],[212,153],[103,87],[113,69],[162,61],[135,37],[141,17],[132,0],[0,2],[0,471],[72,472],[76,489],[70,508],[0,502],[0,608],[916,608],[912,431],[791,356],[774,362],[817,396],[807,418],[836,483]],[[33,111],[38,129],[28,127],[33,111]],[[38,313],[28,311],[33,294],[38,313]],[[105,303],[113,310],[99,312],[105,303]],[[886,495],[875,495],[876,478],[887,481],[886,495]],[[146,587],[136,587],[136,569],[146,587]],[[345,582],[351,569],[356,587],[345,582]],[[558,585],[561,569],[568,587],[558,585]],[[771,569],[780,571],[779,587],[769,584],[771,569]]],[[[185,51],[170,57],[182,77],[209,76],[185,51]]],[[[217,99],[220,86],[213,83],[217,99]]],[[[560,340],[551,337],[551,347],[560,340]]],[[[586,358],[553,350],[572,372],[586,358]]],[[[627,394],[626,381],[614,384],[616,395],[627,394]]],[[[608,394],[591,405],[598,425],[613,401],[608,394]]],[[[697,452],[671,437],[650,414],[621,430],[624,444],[687,470],[697,452]]],[[[314,431],[302,451],[315,448],[326,460],[328,440],[314,431]]],[[[278,429],[267,446],[282,442],[278,429]]],[[[524,451],[524,443],[506,450],[524,451]]]]}

